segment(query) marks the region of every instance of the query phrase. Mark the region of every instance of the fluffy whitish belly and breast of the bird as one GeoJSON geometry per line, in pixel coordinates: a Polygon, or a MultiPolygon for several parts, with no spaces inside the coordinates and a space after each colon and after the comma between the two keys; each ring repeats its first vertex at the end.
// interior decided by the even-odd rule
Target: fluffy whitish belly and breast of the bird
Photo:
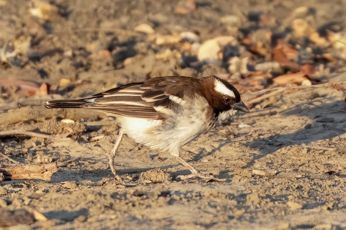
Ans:
{"type": "Polygon", "coordinates": [[[137,143],[179,156],[182,146],[209,131],[216,122],[207,118],[208,104],[203,103],[205,107],[194,103],[190,109],[183,110],[166,121],[132,117],[117,117],[117,121],[124,132],[137,143]]]}

